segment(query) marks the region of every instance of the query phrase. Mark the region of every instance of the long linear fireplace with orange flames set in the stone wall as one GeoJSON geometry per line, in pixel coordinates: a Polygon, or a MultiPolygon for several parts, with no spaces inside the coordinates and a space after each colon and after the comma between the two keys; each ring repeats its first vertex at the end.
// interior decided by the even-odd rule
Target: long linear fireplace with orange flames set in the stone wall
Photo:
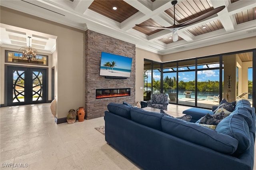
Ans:
{"type": "Polygon", "coordinates": [[[130,96],[131,89],[96,89],[96,99],[130,96]]]}

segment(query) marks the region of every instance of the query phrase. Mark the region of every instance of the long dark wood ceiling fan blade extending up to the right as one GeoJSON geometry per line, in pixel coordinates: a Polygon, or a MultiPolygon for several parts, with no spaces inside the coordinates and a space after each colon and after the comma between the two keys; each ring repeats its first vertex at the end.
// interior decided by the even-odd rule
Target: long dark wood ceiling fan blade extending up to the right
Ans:
{"type": "Polygon", "coordinates": [[[205,13],[205,14],[200,15],[200,16],[198,16],[196,18],[193,18],[191,20],[188,20],[188,21],[183,22],[183,23],[178,24],[178,25],[174,25],[174,28],[184,27],[184,26],[188,26],[188,25],[194,24],[194,23],[196,23],[198,21],[201,21],[201,20],[204,20],[205,18],[208,18],[208,17],[210,17],[210,16],[212,16],[214,14],[217,14],[218,12],[223,10],[224,8],[225,8],[225,6],[220,6],[220,7],[215,8],[215,9],[213,9],[213,10],[211,10],[211,11],[205,13]]]}

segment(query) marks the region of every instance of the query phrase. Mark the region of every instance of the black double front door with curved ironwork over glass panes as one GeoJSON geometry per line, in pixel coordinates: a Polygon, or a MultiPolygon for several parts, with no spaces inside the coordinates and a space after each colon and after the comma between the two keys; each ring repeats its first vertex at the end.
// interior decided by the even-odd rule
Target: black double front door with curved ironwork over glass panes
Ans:
{"type": "Polygon", "coordinates": [[[7,66],[7,106],[46,103],[47,69],[7,66]]]}

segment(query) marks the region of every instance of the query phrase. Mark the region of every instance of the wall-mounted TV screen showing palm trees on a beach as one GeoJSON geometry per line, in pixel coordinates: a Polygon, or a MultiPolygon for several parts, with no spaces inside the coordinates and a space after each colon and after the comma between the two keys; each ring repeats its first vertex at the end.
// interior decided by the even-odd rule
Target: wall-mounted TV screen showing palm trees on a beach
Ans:
{"type": "Polygon", "coordinates": [[[132,58],[121,55],[101,53],[100,75],[110,77],[130,77],[132,58]]]}

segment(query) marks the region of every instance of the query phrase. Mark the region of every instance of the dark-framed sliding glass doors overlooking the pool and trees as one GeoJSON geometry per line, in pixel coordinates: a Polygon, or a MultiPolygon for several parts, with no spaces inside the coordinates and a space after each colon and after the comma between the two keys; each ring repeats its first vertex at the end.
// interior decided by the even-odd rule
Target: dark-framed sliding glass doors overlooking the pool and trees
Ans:
{"type": "Polygon", "coordinates": [[[248,99],[253,106],[254,58],[256,49],[166,63],[145,60],[147,89],[165,93],[169,103],[178,105],[211,109],[222,99],[248,99]]]}

